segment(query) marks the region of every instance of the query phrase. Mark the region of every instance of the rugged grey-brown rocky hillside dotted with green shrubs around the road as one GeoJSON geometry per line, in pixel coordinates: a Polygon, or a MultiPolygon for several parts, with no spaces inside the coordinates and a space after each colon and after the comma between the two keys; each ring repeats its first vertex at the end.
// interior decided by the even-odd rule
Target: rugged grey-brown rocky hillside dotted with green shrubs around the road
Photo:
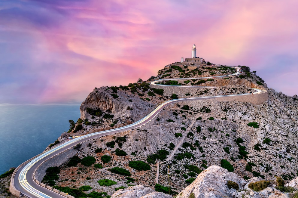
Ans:
{"type": "MultiPolygon", "coordinates": [[[[183,75],[183,77],[186,77],[187,74],[187,71],[166,71],[167,69],[164,69],[159,73],[161,76],[165,73],[170,74],[167,78],[183,75]]],[[[205,70],[206,72],[210,73],[208,70],[205,70]]],[[[215,73],[214,75],[222,74],[221,70],[212,70],[212,72],[215,73]]],[[[194,73],[196,74],[190,73],[191,76],[187,77],[207,76],[207,74],[198,75],[198,71],[194,73]]],[[[116,178],[121,182],[115,187],[129,187],[123,176],[111,173],[108,170],[111,167],[119,166],[129,170],[132,173],[131,177],[138,178],[138,181],[133,182],[134,185],[141,184],[153,188],[156,166],[151,164],[150,171],[136,171],[128,166],[128,162],[134,160],[146,161],[148,155],[154,154],[158,150],[171,152],[170,145],[176,145],[181,138],[176,135],[179,133],[187,136],[184,139],[184,144],[179,147],[172,160],[160,164],[159,175],[159,184],[167,186],[168,166],[170,166],[170,185],[178,192],[187,187],[186,179],[194,179],[199,175],[199,172],[196,172],[195,175],[188,175],[191,172],[187,169],[188,165],[196,166],[202,171],[209,166],[220,165],[221,159],[228,160],[234,167],[234,172],[246,179],[262,176],[267,180],[272,180],[275,175],[281,176],[286,181],[294,179],[298,175],[298,169],[296,168],[298,111],[295,108],[298,97],[296,95],[294,97],[285,96],[273,89],[266,88],[266,84],[254,73],[245,72],[243,76],[241,78],[234,76],[227,77],[228,79],[215,79],[201,84],[219,86],[217,88],[174,89],[161,87],[164,94],[154,92],[153,86],[145,86],[146,90],[141,86],[135,88],[136,85],[134,84],[127,86],[128,89],[125,86],[119,86],[117,91],[115,91],[115,88],[108,87],[95,88],[80,108],[83,130],[76,133],[73,131],[65,133],[58,139],[59,141],[63,142],[69,135],[83,135],[130,124],[147,115],[157,104],[171,99],[173,93],[181,98],[247,93],[252,92],[252,87],[258,87],[267,89],[269,100],[261,105],[244,102],[218,102],[215,100],[172,104],[161,111],[157,119],[151,121],[148,125],[114,136],[102,137],[90,142],[91,146],[81,148],[78,153],[80,158],[87,155],[94,156],[96,157],[96,163],[102,163],[100,157],[109,155],[112,160],[104,164],[103,169],[89,169],[89,171],[85,170],[84,174],[73,175],[76,180],[74,183],[61,181],[58,185],[85,185],[90,181],[83,182],[80,178],[81,176],[84,178],[89,176],[94,183],[98,179],[116,178]],[[235,82],[240,83],[240,85],[231,85],[235,82]],[[153,92],[154,95],[150,92],[153,92]],[[118,97],[112,94],[116,94],[118,97]],[[189,108],[183,108],[185,105],[189,108]],[[100,110],[102,115],[92,115],[90,111],[87,111],[87,108],[100,110]],[[103,118],[106,113],[113,115],[113,118],[103,118]],[[86,119],[88,122],[96,122],[96,124],[86,125],[86,119]],[[190,125],[193,121],[195,121],[194,124],[190,125]],[[250,122],[256,122],[259,127],[248,126],[250,122]],[[188,134],[184,128],[189,127],[190,133],[188,134]],[[120,137],[126,138],[121,146],[118,144],[114,148],[107,146],[107,142],[116,141],[120,137]],[[95,153],[97,148],[102,148],[102,152],[95,153]],[[124,150],[128,155],[125,157],[117,156],[115,155],[115,149],[124,150]]],[[[143,83],[147,82],[150,81],[143,83]]],[[[187,84],[190,83],[187,82],[187,84]]],[[[76,172],[78,168],[81,167],[74,167],[71,170],[76,172]]],[[[60,179],[66,179],[68,173],[67,168],[63,170],[60,173],[60,179]]],[[[110,194],[114,192],[112,188],[103,189],[98,184],[93,185],[93,187],[93,190],[105,190],[110,194]]]]}

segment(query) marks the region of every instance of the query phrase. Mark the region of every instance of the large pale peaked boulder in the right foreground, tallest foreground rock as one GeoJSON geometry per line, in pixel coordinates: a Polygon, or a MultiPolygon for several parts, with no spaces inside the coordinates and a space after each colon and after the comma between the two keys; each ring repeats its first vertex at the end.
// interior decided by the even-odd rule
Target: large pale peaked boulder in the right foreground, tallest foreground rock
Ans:
{"type": "Polygon", "coordinates": [[[247,183],[237,174],[228,172],[227,169],[220,166],[210,166],[201,172],[196,180],[182,190],[176,198],[188,198],[190,193],[200,198],[233,197],[236,190],[228,188],[228,181],[236,182],[239,187],[243,187],[247,183]]]}

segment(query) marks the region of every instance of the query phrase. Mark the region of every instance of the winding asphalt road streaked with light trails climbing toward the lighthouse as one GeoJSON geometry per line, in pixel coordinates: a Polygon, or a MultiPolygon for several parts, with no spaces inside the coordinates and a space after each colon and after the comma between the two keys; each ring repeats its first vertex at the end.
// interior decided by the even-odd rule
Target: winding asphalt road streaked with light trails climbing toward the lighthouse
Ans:
{"type": "MultiPolygon", "coordinates": [[[[242,73],[241,68],[239,67],[234,67],[237,72],[225,76],[215,76],[215,78],[221,78],[221,77],[226,77],[226,76],[235,76],[239,75],[242,73]]],[[[189,79],[210,79],[214,78],[213,76],[211,77],[201,77],[201,78],[184,78],[184,79],[158,79],[153,82],[151,82],[151,85],[154,86],[178,86],[178,87],[191,87],[191,88],[205,88],[205,86],[180,86],[180,85],[160,85],[156,84],[161,81],[166,81],[166,80],[189,80],[189,79]]],[[[210,88],[210,87],[209,87],[210,88]]],[[[264,90],[256,89],[254,88],[256,92],[254,94],[260,94],[262,92],[266,92],[264,90]]],[[[164,102],[163,104],[160,104],[157,108],[155,108],[151,113],[149,113],[147,116],[145,116],[143,119],[127,125],[123,126],[120,128],[115,128],[111,130],[106,130],[106,131],[100,131],[92,134],[87,134],[78,138],[74,138],[70,141],[67,141],[57,147],[54,147],[51,150],[48,150],[44,153],[41,153],[38,156],[35,156],[34,158],[28,160],[27,162],[24,162],[22,165],[17,167],[17,169],[14,171],[12,178],[11,178],[11,187],[15,188],[15,191],[20,191],[21,195],[24,195],[29,198],[50,198],[50,197],[65,197],[62,196],[52,190],[49,190],[45,187],[42,187],[41,185],[38,185],[34,181],[34,174],[38,166],[46,161],[47,159],[52,158],[53,156],[58,155],[59,153],[62,153],[63,151],[73,148],[75,145],[79,143],[83,143],[85,141],[89,141],[93,138],[99,138],[105,135],[111,135],[123,131],[127,131],[130,129],[135,129],[138,127],[141,127],[142,125],[147,124],[150,122],[152,119],[157,116],[157,114],[166,106],[169,104],[173,104],[176,102],[181,102],[181,101],[195,101],[195,100],[207,100],[207,99],[214,99],[217,97],[230,97],[230,96],[240,96],[240,95],[249,95],[251,93],[247,94],[232,94],[232,95],[219,95],[219,96],[207,96],[207,97],[189,97],[189,98],[179,98],[179,99],[174,99],[174,100],[169,100],[164,102]]],[[[13,190],[11,190],[13,191],[13,190]]],[[[13,193],[15,194],[15,193],[13,193]]]]}

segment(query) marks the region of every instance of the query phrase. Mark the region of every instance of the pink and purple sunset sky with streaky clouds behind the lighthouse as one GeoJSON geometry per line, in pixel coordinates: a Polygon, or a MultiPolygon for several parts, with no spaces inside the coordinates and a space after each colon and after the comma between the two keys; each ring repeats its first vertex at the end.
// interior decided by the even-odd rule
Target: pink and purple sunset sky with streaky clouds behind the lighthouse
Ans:
{"type": "Polygon", "coordinates": [[[298,94],[298,1],[2,0],[0,104],[81,103],[197,56],[298,94]]]}

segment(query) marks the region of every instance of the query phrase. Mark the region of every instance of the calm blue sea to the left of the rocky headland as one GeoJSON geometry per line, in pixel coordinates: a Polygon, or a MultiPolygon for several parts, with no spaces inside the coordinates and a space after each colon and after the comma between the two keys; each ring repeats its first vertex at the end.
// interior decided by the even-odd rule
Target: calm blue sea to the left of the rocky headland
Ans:
{"type": "Polygon", "coordinates": [[[80,104],[0,104],[0,175],[42,153],[80,118],[80,104]]]}

